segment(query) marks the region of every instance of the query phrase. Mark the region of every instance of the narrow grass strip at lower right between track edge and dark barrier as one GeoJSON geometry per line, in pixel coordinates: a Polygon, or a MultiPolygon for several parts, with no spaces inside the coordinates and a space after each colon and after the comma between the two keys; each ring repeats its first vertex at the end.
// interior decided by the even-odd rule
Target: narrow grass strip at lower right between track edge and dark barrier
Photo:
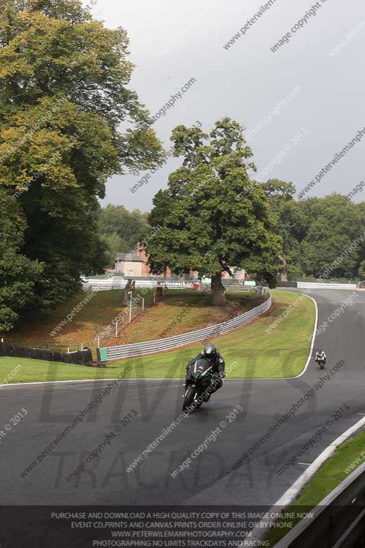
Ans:
{"type": "MultiPolygon", "coordinates": [[[[365,432],[340,445],[336,453],[320,467],[311,481],[305,486],[301,495],[285,511],[295,512],[296,510],[300,510],[300,512],[310,512],[314,506],[317,506],[334,488],[340,485],[349,476],[349,473],[355,470],[353,468],[348,473],[346,471],[347,466],[350,466],[352,463],[360,466],[364,462],[364,458],[361,459],[361,453],[364,451],[364,448],[365,432]],[[357,462],[358,458],[360,460],[357,462]]],[[[299,520],[292,521],[297,523],[299,520]]],[[[265,537],[265,540],[270,542],[270,547],[274,547],[288,531],[285,528],[273,528],[265,537]]]]}

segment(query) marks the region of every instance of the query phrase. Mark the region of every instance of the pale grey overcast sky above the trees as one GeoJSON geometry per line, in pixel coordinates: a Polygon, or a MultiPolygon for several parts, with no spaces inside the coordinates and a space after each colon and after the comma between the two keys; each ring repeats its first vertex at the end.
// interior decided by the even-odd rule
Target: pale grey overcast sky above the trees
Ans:
{"type": "MultiPolygon", "coordinates": [[[[300,192],[365,127],[364,0],[271,0],[266,10],[265,0],[91,1],[106,26],[127,29],[136,64],[130,87],[151,114],[196,80],[154,125],[165,149],[175,125],[200,121],[209,130],[229,116],[251,132],[257,176],[291,181],[300,192]]],[[[365,180],[364,149],[365,136],[306,196],[347,195],[365,180]]],[[[103,205],[150,210],[179,163],[168,160],[134,193],[129,188],[147,172],[112,177],[103,205]]],[[[353,200],[361,199],[357,192],[353,200]]]]}

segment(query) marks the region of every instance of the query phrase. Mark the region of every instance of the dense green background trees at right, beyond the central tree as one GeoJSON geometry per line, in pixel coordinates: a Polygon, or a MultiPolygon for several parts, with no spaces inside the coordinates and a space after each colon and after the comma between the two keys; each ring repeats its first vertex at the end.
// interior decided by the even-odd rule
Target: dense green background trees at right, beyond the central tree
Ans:
{"type": "Polygon", "coordinates": [[[365,259],[364,202],[355,204],[336,193],[296,201],[294,186],[278,179],[268,180],[263,187],[283,239],[289,279],[323,273],[329,278],[357,276],[365,259]]]}

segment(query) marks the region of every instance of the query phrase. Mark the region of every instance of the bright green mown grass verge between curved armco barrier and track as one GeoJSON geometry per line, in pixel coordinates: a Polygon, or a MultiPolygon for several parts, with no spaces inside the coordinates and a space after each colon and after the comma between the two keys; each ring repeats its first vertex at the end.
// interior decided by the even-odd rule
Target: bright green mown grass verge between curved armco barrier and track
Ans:
{"type": "MultiPolygon", "coordinates": [[[[273,378],[299,375],[305,366],[310,349],[308,337],[314,329],[315,310],[311,299],[305,297],[273,331],[266,329],[294,301],[298,294],[281,290],[273,291],[274,306],[264,316],[246,327],[212,339],[223,354],[231,378],[273,378]]],[[[131,358],[108,364],[105,369],[87,368],[68,364],[48,364],[38,360],[0,358],[0,379],[4,379],[16,364],[24,363],[23,369],[12,382],[29,382],[53,379],[115,378],[128,366],[126,377],[181,378],[185,376],[186,363],[202,348],[197,343],[153,356],[131,358]]]]}

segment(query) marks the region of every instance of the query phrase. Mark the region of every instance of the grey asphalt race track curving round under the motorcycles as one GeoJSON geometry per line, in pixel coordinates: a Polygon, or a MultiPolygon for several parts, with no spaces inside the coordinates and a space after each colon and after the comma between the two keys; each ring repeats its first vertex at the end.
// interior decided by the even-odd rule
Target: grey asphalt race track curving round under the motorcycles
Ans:
{"type": "MultiPolygon", "coordinates": [[[[318,326],[352,293],[313,291],[318,326]]],[[[359,290],[356,295],[353,304],[345,306],[327,331],[316,337],[314,348],[322,347],[327,352],[324,371],[312,359],[297,379],[228,379],[208,405],[182,421],[131,473],[125,471],[127,466],[181,414],[181,380],[119,382],[97,412],[91,412],[25,477],[21,477],[25,468],[108,382],[1,388],[1,424],[8,423],[21,408],[27,410],[25,419],[1,438],[1,505],[275,503],[327,445],[365,414],[365,292],[359,290]],[[329,371],[341,360],[344,364],[331,375],[329,371]],[[262,445],[251,449],[249,458],[242,458],[244,451],[249,451],[325,375],[329,380],[313,399],[308,399],[262,445]],[[236,406],[244,411],[229,423],[227,416],[236,406]],[[333,414],[341,409],[336,419],[333,414]],[[121,419],[129,413],[136,417],[116,432],[121,419]],[[221,421],[226,426],[221,427],[215,442],[209,443],[188,469],[175,479],[171,477],[221,421]],[[327,421],[331,421],[330,426],[327,421]],[[305,464],[297,462],[277,473],[323,425],[327,425],[327,431],[298,458],[305,464]],[[110,432],[114,436],[100,458],[75,479],[66,481],[110,432]],[[233,469],[240,458],[240,465],[233,469]]]]}

